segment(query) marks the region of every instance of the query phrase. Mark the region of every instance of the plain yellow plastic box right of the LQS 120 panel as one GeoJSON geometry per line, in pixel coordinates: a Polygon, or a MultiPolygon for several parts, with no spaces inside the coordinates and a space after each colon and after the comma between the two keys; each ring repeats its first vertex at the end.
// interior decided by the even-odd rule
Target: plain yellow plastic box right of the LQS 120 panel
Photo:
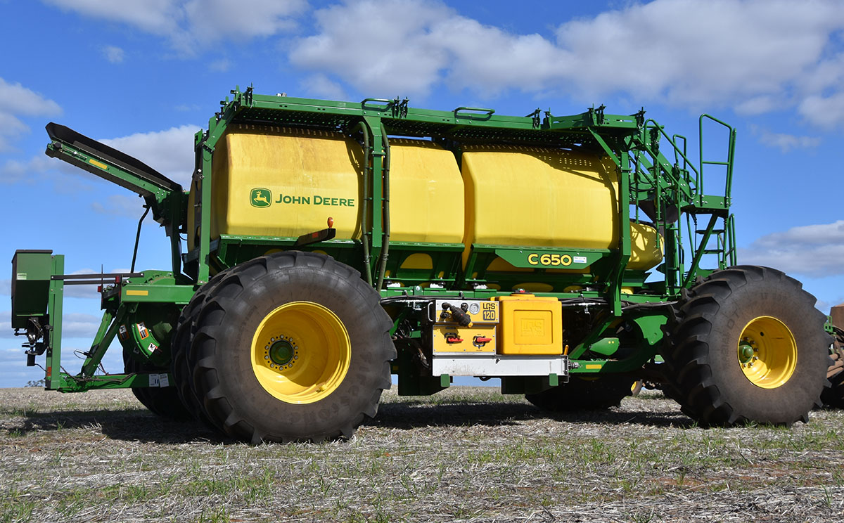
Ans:
{"type": "Polygon", "coordinates": [[[498,353],[562,354],[563,308],[556,298],[499,296],[498,353]]]}

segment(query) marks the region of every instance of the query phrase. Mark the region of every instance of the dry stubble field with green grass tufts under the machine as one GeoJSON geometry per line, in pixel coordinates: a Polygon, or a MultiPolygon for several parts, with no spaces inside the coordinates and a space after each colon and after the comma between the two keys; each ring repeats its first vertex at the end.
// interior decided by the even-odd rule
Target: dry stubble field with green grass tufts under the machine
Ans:
{"type": "Polygon", "coordinates": [[[388,393],[350,442],[223,441],[130,391],[0,389],[0,521],[839,521],[844,412],[699,429],[661,396],[549,418],[388,393]]]}

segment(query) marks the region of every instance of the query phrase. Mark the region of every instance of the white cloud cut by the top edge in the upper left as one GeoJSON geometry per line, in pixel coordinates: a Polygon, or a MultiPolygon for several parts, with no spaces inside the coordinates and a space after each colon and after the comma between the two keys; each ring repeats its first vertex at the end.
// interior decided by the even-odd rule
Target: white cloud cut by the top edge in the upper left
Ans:
{"type": "Polygon", "coordinates": [[[65,11],[127,24],[168,38],[179,51],[192,54],[197,44],[270,36],[295,27],[306,0],[45,0],[65,11]]]}

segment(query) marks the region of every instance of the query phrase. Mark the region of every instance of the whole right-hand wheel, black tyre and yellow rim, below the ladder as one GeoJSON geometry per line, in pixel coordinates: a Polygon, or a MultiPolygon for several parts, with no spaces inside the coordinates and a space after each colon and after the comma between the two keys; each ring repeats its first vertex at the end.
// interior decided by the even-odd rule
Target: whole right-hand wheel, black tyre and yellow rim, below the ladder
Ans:
{"type": "Polygon", "coordinates": [[[809,421],[831,342],[814,303],[768,267],[730,267],[692,288],[663,353],[683,412],[704,426],[809,421]]]}

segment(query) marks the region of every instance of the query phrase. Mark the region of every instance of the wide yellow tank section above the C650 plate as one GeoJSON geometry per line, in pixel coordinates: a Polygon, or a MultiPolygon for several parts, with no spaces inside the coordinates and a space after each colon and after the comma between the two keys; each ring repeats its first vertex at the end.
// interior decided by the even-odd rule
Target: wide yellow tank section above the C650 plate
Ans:
{"type": "Polygon", "coordinates": [[[609,159],[545,148],[463,148],[468,245],[607,249],[618,243],[609,159]]]}

